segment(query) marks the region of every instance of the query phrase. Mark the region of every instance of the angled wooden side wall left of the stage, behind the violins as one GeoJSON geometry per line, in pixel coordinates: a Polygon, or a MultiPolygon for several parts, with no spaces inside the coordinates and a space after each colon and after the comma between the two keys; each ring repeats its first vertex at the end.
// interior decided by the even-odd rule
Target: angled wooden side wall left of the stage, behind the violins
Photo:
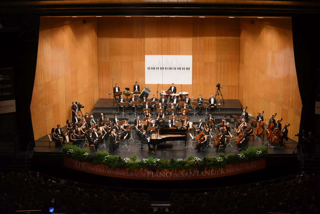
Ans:
{"type": "Polygon", "coordinates": [[[71,102],[93,109],[98,99],[96,18],[41,18],[31,117],[35,139],[71,119],[71,102]]]}

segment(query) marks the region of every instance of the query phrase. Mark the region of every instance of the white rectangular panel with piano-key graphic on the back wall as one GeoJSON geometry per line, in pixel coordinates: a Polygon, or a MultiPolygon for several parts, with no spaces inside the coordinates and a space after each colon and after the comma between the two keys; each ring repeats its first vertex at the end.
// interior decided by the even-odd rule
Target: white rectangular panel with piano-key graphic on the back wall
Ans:
{"type": "Polygon", "coordinates": [[[145,55],[146,84],[192,84],[192,55],[145,55]]]}

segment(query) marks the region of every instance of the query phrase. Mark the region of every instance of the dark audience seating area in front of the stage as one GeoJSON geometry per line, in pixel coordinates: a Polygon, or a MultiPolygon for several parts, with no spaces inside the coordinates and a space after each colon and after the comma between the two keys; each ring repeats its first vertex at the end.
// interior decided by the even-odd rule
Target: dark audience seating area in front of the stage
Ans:
{"type": "Polygon", "coordinates": [[[107,187],[44,178],[30,171],[10,172],[0,177],[0,213],[15,210],[47,213],[52,198],[56,201],[55,213],[319,213],[320,180],[315,174],[309,176],[304,172],[294,178],[198,190],[199,193],[176,190],[169,197],[170,206],[158,209],[151,207],[147,192],[111,192],[107,187]]]}

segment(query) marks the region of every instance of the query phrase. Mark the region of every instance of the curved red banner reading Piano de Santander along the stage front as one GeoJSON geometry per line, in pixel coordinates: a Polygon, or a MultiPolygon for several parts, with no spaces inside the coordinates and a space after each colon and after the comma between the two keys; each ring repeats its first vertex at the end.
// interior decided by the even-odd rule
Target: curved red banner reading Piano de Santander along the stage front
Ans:
{"type": "Polygon", "coordinates": [[[224,168],[200,170],[120,170],[111,169],[106,165],[94,165],[87,162],[79,162],[71,158],[64,157],[65,167],[79,170],[96,175],[103,175],[115,178],[128,178],[140,180],[193,180],[205,178],[218,178],[230,175],[237,175],[255,170],[264,169],[266,167],[266,160],[252,161],[246,163],[239,163],[236,165],[227,165],[224,168]]]}

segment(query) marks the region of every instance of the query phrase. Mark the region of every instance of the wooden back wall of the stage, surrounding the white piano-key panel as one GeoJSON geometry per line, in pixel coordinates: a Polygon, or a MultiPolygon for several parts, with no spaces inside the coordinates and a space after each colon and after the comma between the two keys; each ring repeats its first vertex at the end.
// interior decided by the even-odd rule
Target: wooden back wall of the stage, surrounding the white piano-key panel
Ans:
{"type": "MultiPolygon", "coordinates": [[[[145,55],[192,55],[190,96],[207,98],[223,87],[224,99],[238,99],[239,19],[192,17],[101,17],[98,19],[99,98],[109,98],[112,78],[121,90],[138,81],[156,94],[157,84],[145,84],[145,55]]],[[[170,84],[159,80],[158,90],[170,84]]],[[[172,83],[175,78],[172,77],[172,83]]],[[[176,84],[181,91],[180,84],[176,84]]]]}

